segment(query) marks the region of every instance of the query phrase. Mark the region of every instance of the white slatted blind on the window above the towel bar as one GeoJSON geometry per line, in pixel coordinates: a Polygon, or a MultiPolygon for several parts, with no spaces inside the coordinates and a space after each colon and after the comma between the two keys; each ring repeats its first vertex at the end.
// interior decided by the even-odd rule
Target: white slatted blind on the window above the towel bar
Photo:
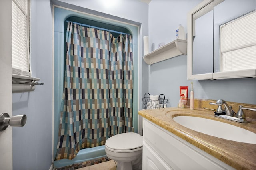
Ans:
{"type": "Polygon", "coordinates": [[[30,75],[29,1],[12,0],[12,73],[30,75]]]}

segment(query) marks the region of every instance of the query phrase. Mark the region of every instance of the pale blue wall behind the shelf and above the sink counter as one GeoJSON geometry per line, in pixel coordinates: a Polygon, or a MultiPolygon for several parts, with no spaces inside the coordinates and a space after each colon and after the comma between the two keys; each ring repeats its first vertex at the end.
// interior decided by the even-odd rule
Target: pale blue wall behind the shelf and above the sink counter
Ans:
{"type": "MultiPolygon", "coordinates": [[[[152,0],[149,4],[150,45],[155,44],[157,47],[158,43],[173,41],[179,24],[187,30],[187,13],[200,2],[202,0],[152,0]]],[[[150,66],[149,93],[152,95],[164,93],[170,102],[168,107],[177,107],[179,86],[189,86],[190,91],[190,82],[187,80],[186,55],[150,66]]],[[[256,104],[255,78],[193,80],[193,82],[195,98],[256,104]]]]}

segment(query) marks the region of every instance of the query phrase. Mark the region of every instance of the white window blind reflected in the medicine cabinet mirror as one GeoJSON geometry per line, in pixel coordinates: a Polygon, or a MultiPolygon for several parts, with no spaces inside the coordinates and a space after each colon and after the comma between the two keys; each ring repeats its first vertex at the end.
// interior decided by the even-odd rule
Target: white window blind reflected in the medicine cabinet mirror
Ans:
{"type": "Polygon", "coordinates": [[[221,71],[256,69],[255,11],[220,26],[221,71]]]}

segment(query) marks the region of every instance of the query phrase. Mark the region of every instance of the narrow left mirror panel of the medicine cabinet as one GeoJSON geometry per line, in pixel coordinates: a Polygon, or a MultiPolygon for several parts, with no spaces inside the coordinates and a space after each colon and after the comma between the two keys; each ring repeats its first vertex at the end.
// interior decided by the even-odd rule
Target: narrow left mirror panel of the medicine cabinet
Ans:
{"type": "Polygon", "coordinates": [[[213,70],[213,2],[193,14],[193,74],[213,70]],[[202,64],[203,63],[203,64],[202,64]]]}

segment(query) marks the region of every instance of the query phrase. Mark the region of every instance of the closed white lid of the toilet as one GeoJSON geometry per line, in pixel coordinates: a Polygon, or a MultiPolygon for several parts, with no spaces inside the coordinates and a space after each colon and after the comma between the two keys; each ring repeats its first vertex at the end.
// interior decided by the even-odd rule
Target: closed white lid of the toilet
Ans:
{"type": "Polygon", "coordinates": [[[142,147],[142,140],[137,133],[121,133],[108,138],[105,145],[114,150],[131,150],[142,147]]]}

